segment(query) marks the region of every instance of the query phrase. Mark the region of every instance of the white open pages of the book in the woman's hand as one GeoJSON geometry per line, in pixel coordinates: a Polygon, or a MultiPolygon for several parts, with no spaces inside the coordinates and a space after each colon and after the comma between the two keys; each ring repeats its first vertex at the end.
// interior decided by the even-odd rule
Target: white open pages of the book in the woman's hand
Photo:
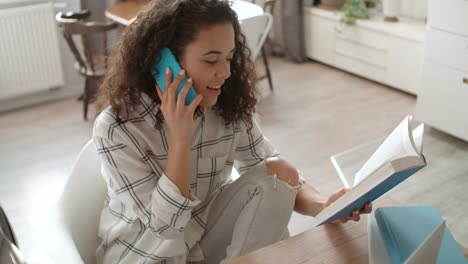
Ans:
{"type": "MultiPolygon", "coordinates": [[[[385,162],[405,155],[419,156],[419,153],[414,146],[415,142],[412,138],[413,132],[411,131],[411,120],[412,117],[407,116],[385,139],[374,154],[372,154],[370,159],[356,173],[353,186],[358,185],[385,162]]],[[[420,130],[418,131],[420,132],[420,130]]],[[[418,143],[420,142],[422,142],[422,139],[419,139],[418,143]]]]}

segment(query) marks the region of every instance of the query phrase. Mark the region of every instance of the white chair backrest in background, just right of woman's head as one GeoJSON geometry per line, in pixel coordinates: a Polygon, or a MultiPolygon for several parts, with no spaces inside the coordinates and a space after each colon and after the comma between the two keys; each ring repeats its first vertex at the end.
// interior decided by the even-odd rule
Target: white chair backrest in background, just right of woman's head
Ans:
{"type": "Polygon", "coordinates": [[[272,16],[268,13],[241,20],[241,30],[246,37],[247,46],[252,52],[252,59],[257,58],[260,53],[271,30],[272,20],[272,16]]]}

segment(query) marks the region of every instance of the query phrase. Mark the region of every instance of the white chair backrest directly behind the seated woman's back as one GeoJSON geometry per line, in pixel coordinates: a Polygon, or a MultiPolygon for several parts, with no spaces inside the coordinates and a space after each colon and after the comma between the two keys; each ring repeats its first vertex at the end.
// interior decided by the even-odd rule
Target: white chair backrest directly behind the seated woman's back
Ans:
{"type": "Polygon", "coordinates": [[[96,262],[98,228],[107,189],[92,141],[81,150],[59,202],[61,219],[84,263],[96,262]]]}

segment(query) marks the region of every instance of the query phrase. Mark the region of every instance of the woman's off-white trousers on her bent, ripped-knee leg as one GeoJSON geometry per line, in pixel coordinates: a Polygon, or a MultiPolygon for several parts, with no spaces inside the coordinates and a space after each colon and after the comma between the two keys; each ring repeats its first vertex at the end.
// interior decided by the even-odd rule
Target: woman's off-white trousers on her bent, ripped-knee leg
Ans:
{"type": "Polygon", "coordinates": [[[225,263],[289,237],[299,187],[266,175],[264,163],[227,185],[213,202],[200,241],[205,260],[194,263],[225,263]]]}

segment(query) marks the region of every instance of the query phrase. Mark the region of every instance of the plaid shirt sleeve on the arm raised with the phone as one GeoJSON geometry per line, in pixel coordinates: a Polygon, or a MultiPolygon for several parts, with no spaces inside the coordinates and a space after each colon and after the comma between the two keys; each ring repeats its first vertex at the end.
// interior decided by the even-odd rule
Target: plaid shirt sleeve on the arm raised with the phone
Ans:
{"type": "Polygon", "coordinates": [[[137,142],[125,140],[119,133],[108,134],[95,129],[93,141],[109,195],[128,208],[120,217],[130,221],[138,218],[163,238],[179,235],[200,200],[194,196],[185,198],[137,142]]]}

